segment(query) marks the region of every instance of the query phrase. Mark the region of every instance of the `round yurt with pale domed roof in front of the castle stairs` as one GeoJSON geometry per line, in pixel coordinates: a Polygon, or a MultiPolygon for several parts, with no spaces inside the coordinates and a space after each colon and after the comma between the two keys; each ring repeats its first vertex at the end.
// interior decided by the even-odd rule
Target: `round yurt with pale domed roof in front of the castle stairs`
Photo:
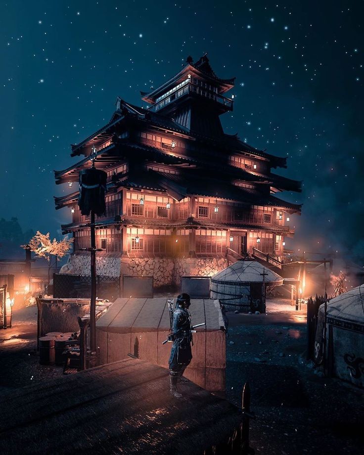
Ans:
{"type": "Polygon", "coordinates": [[[211,278],[211,298],[226,310],[265,312],[263,283],[279,286],[283,278],[257,261],[237,261],[211,278]]]}

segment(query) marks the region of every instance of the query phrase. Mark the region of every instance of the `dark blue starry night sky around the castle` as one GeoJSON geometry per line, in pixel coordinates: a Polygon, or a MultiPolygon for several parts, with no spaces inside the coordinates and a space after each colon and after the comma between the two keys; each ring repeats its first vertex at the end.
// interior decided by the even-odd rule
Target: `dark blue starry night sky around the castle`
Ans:
{"type": "MultiPolygon", "coordinates": [[[[288,157],[303,180],[294,240],[364,257],[363,1],[1,1],[0,217],[60,236],[53,170],[109,121],[208,52],[235,76],[229,134],[288,157]]],[[[291,220],[292,221],[292,220],[291,220]]],[[[292,224],[292,223],[291,223],[292,224]]]]}

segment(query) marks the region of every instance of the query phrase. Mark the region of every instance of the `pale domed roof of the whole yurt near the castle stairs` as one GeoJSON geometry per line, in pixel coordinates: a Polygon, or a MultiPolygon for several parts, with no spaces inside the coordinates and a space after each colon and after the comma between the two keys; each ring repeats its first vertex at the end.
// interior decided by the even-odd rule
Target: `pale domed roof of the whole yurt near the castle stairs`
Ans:
{"type": "Polygon", "coordinates": [[[240,260],[214,275],[211,280],[215,283],[261,283],[264,280],[266,283],[280,285],[283,284],[283,278],[272,270],[264,267],[257,261],[240,260]]]}

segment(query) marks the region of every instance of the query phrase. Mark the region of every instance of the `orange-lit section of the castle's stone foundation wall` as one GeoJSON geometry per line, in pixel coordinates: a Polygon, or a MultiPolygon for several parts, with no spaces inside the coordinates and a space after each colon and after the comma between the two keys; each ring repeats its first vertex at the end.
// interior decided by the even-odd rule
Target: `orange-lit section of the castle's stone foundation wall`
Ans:
{"type": "Polygon", "coordinates": [[[225,258],[123,258],[122,275],[153,276],[154,287],[180,285],[180,276],[213,276],[227,267],[225,258]]]}

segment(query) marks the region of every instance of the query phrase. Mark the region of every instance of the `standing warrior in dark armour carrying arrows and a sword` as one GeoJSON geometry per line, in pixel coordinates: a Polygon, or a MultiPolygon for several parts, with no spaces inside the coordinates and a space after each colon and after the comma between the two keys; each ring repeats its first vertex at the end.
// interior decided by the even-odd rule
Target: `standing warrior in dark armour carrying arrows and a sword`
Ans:
{"type": "Polygon", "coordinates": [[[192,327],[191,315],[188,311],[190,304],[189,295],[180,294],[177,297],[176,310],[173,312],[173,346],[169,359],[169,373],[171,395],[175,398],[182,398],[182,395],[177,391],[177,383],[182,381],[183,372],[192,360],[192,327]]]}

